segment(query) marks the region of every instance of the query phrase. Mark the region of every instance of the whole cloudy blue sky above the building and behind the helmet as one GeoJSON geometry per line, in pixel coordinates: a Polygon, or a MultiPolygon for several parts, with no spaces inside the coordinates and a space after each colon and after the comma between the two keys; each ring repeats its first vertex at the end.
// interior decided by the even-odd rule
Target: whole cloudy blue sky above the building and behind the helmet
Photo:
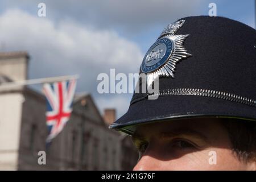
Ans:
{"type": "MultiPolygon", "coordinates": [[[[28,77],[75,75],[77,92],[90,93],[101,112],[121,117],[131,94],[100,94],[100,73],[138,73],[144,54],[163,28],[185,16],[217,16],[255,27],[255,2],[208,0],[0,0],[0,51],[27,51],[28,77]],[[46,17],[38,4],[46,4],[46,17]]],[[[38,86],[35,89],[40,90],[38,86]]]]}

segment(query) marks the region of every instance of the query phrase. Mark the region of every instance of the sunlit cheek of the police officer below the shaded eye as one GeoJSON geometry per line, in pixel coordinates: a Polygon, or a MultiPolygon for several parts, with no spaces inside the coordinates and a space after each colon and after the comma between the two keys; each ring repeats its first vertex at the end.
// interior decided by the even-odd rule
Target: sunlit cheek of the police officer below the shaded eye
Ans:
{"type": "Polygon", "coordinates": [[[162,161],[165,170],[243,170],[245,165],[237,160],[232,151],[210,148],[162,161]]]}

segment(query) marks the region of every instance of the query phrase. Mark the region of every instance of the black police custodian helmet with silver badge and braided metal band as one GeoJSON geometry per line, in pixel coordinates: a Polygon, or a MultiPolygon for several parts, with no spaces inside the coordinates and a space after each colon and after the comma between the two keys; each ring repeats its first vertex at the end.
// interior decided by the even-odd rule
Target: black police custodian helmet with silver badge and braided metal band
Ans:
{"type": "Polygon", "coordinates": [[[140,68],[159,77],[159,97],[134,93],[110,128],[131,135],[138,124],[172,119],[256,121],[255,45],[254,28],[228,18],[191,16],[169,24],[140,68]]]}

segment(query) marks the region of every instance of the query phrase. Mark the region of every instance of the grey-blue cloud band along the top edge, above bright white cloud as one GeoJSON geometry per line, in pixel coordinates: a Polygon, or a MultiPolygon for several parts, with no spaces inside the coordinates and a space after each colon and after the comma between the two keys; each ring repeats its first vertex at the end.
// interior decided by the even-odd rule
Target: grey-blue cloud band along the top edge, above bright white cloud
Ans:
{"type": "MultiPolygon", "coordinates": [[[[6,7],[29,7],[38,10],[40,0],[5,1],[6,7]]],[[[208,9],[202,0],[44,0],[47,16],[57,20],[72,18],[94,27],[122,28],[123,31],[144,31],[156,25],[164,26],[184,16],[199,15],[200,7],[208,9]]]]}

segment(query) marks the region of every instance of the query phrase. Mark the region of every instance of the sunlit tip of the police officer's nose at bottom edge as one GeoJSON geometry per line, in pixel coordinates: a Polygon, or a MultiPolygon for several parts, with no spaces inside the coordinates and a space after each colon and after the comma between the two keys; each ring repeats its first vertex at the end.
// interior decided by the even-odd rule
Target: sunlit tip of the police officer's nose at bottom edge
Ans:
{"type": "Polygon", "coordinates": [[[134,171],[156,171],[160,169],[160,161],[150,155],[143,155],[136,166],[134,171]]]}

